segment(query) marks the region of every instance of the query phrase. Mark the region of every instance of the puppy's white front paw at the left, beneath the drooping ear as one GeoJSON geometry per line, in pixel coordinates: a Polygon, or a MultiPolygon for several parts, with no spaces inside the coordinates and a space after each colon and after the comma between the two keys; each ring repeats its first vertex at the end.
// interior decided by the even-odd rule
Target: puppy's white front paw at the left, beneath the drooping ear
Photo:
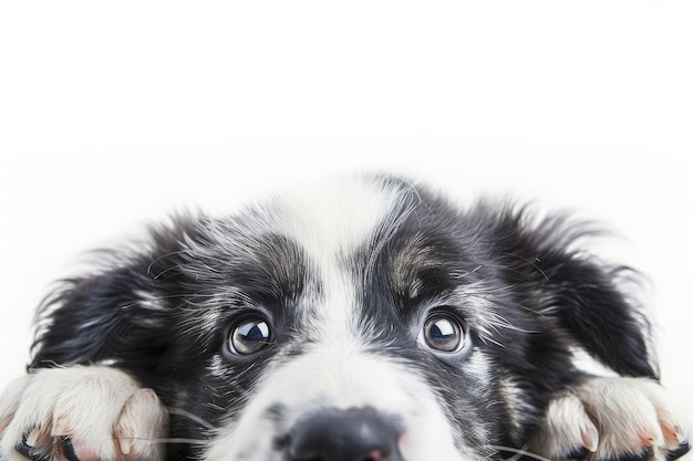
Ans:
{"type": "Polygon", "coordinates": [[[154,391],[121,370],[44,369],[0,397],[0,459],[159,461],[167,421],[154,391]]]}

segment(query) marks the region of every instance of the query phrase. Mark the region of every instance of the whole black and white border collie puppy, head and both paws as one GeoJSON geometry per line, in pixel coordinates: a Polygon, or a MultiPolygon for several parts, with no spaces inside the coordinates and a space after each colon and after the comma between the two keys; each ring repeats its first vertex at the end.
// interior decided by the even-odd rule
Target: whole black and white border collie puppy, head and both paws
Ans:
{"type": "Polygon", "coordinates": [[[0,458],[676,459],[633,273],[591,233],[390,177],[175,218],[48,297],[0,458]]]}

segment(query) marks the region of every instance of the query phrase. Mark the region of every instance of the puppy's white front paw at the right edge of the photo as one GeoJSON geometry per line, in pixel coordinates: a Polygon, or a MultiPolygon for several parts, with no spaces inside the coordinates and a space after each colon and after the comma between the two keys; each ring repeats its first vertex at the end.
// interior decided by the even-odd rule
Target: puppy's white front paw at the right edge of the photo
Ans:
{"type": "Polygon", "coordinates": [[[664,389],[645,378],[590,378],[554,399],[530,450],[550,459],[673,460],[689,448],[664,389]]]}

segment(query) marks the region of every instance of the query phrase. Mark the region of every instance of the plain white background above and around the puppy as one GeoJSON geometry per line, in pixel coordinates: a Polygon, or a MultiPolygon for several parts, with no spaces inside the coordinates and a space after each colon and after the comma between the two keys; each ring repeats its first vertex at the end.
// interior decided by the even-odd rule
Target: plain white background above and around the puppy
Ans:
{"type": "Polygon", "coordinates": [[[0,385],[84,251],[377,169],[618,229],[693,419],[691,24],[663,0],[4,0],[0,385]]]}

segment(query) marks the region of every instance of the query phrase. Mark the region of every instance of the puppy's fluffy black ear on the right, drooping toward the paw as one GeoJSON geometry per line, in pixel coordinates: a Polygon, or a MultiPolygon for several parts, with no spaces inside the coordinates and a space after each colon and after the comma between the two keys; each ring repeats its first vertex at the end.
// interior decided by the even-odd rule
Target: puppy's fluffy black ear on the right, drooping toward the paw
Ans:
{"type": "Polygon", "coordinates": [[[639,291],[638,274],[580,250],[586,238],[604,232],[565,216],[532,222],[525,210],[497,221],[501,258],[520,289],[519,303],[614,371],[658,379],[648,347],[650,325],[637,293],[625,291],[639,291]]]}

